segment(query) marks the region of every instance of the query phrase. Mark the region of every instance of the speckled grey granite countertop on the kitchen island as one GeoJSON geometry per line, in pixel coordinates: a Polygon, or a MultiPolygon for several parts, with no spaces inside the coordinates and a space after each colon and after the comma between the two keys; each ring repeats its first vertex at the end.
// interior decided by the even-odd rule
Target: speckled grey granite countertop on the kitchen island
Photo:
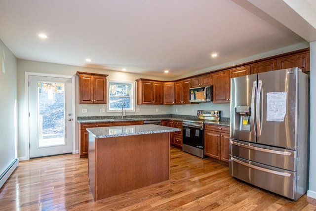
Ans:
{"type": "Polygon", "coordinates": [[[180,128],[165,127],[158,125],[136,125],[136,126],[117,126],[117,127],[90,127],[86,129],[95,138],[110,138],[128,135],[143,135],[162,132],[180,131],[180,128]]]}

